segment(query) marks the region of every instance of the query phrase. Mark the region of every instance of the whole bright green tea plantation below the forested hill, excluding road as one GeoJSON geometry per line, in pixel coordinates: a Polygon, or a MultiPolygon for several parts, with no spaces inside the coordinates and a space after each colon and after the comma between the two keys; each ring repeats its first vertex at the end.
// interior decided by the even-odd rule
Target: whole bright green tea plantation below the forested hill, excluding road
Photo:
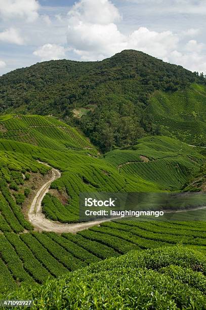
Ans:
{"type": "Polygon", "coordinates": [[[39,232],[23,215],[23,206],[32,199],[29,179],[50,173],[41,162],[62,174],[45,196],[43,212],[51,220],[74,223],[79,220],[80,192],[180,191],[198,175],[205,157],[197,148],[164,136],[99,154],[84,135],[53,117],[1,117],[0,299],[23,285],[11,298],[42,296],[36,308],[46,308],[46,299],[53,308],[204,308],[204,210],[164,222],[113,220],[76,235],[39,232]],[[187,221],[191,218],[196,220],[187,221]],[[74,271],[83,267],[84,272],[74,271]],[[33,289],[27,291],[29,285],[33,289]]]}

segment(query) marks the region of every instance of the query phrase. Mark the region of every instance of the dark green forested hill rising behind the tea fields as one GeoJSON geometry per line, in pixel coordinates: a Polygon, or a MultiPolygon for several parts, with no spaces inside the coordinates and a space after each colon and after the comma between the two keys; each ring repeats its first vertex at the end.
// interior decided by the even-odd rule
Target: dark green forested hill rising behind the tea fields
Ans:
{"type": "Polygon", "coordinates": [[[160,134],[144,112],[151,94],[192,83],[203,84],[203,76],[134,50],[99,62],[47,61],[0,77],[0,112],[57,115],[105,151],[160,134]]]}

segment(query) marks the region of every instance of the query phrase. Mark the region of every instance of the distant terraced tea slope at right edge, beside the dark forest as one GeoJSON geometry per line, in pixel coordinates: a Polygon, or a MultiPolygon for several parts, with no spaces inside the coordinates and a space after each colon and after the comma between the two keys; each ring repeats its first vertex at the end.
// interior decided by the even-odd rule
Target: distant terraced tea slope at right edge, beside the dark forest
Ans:
{"type": "Polygon", "coordinates": [[[153,115],[162,135],[191,145],[206,145],[205,86],[193,84],[174,93],[156,91],[146,110],[153,115]]]}

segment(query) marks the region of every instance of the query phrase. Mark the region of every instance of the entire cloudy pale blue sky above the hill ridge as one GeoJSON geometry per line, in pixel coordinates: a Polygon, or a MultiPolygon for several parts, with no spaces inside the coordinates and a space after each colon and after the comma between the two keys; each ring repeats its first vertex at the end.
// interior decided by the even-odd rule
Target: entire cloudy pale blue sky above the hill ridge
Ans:
{"type": "Polygon", "coordinates": [[[0,75],[143,51],[206,74],[205,0],[0,0],[0,75]]]}

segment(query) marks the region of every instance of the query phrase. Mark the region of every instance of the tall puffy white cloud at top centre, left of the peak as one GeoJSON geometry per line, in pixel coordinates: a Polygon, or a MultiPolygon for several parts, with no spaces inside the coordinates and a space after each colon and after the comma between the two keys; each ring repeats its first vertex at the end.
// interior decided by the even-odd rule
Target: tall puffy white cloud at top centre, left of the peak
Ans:
{"type": "Polygon", "coordinates": [[[125,35],[114,24],[120,15],[110,1],[81,0],[68,17],[68,45],[82,60],[101,60],[127,47],[125,35]]]}

